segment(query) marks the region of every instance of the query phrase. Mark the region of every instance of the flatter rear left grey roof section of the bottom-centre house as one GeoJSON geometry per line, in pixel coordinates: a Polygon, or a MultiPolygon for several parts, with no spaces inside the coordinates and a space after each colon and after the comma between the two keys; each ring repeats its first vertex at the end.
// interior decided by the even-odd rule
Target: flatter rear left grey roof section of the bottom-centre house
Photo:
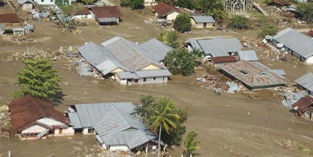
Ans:
{"type": "Polygon", "coordinates": [[[112,108],[112,106],[129,112],[134,111],[134,106],[131,102],[77,104],[73,106],[76,108],[78,117],[83,128],[94,128],[99,119],[102,118],[104,114],[106,114],[112,108]]]}

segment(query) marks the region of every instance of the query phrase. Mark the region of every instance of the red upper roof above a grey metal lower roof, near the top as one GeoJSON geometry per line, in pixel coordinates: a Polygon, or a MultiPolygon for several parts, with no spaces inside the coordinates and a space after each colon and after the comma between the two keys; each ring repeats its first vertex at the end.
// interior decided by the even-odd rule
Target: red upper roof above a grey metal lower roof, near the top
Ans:
{"type": "Polygon", "coordinates": [[[102,7],[92,7],[96,18],[119,18],[122,17],[122,13],[119,11],[117,6],[102,6],[102,7]]]}

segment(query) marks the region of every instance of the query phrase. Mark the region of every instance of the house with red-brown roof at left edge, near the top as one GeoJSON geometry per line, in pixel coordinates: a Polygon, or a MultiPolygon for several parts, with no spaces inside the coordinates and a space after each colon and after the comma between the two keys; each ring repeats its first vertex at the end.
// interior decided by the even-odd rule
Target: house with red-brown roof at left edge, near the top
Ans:
{"type": "Polygon", "coordinates": [[[0,35],[24,35],[34,31],[34,25],[21,22],[17,14],[0,14],[0,35]]]}

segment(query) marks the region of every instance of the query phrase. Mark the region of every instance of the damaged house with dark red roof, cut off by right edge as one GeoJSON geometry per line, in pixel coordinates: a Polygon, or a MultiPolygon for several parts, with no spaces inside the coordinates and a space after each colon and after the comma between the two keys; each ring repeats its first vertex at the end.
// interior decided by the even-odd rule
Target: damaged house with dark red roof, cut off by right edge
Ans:
{"type": "Polygon", "coordinates": [[[313,98],[311,96],[302,97],[291,107],[300,117],[313,121],[313,98]]]}

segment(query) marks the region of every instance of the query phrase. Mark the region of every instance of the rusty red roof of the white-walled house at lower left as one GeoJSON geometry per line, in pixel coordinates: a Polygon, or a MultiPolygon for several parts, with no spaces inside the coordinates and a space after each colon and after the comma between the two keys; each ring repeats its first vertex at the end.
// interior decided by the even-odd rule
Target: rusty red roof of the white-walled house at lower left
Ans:
{"type": "Polygon", "coordinates": [[[35,98],[30,94],[9,104],[11,121],[18,132],[32,126],[38,119],[51,117],[64,124],[69,124],[69,118],[54,109],[53,104],[35,98]]]}

